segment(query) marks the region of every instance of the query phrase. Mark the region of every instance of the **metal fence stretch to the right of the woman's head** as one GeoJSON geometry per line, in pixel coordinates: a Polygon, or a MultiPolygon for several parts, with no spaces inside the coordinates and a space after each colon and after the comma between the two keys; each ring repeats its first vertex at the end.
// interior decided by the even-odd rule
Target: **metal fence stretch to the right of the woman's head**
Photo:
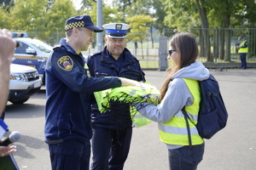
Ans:
{"type": "Polygon", "coordinates": [[[200,49],[200,60],[202,62],[206,61],[206,56],[201,53],[203,48],[201,42],[202,31],[207,31],[209,35],[213,62],[240,62],[240,55],[237,53],[236,46],[240,44],[240,38],[242,36],[246,37],[248,42],[247,61],[256,61],[256,28],[185,28],[178,31],[189,31],[195,34],[200,49]]]}

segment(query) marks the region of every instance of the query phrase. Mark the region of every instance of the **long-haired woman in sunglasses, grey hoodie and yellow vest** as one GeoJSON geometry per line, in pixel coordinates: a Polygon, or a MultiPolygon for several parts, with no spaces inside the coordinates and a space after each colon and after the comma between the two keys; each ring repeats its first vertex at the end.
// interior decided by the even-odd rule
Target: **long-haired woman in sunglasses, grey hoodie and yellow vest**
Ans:
{"type": "Polygon", "coordinates": [[[194,35],[188,32],[176,33],[169,45],[167,59],[171,59],[172,66],[160,90],[160,105],[132,104],[143,116],[159,122],[160,140],[166,143],[171,170],[195,170],[204,154],[204,140],[192,123],[189,123],[192,136],[192,145],[189,146],[182,112],[184,108],[189,118],[197,122],[201,100],[198,81],[210,76],[208,69],[196,61],[197,55],[194,35]]]}

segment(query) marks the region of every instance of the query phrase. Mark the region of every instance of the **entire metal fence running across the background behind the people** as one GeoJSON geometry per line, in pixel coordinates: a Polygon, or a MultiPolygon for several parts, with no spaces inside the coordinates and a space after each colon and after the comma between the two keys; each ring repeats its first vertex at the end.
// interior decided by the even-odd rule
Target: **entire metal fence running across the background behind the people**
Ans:
{"type": "MultiPolygon", "coordinates": [[[[180,30],[165,28],[162,34],[160,34],[159,31],[154,31],[153,34],[145,34],[144,37],[146,37],[147,40],[137,42],[137,48],[135,48],[135,42],[129,42],[129,39],[127,39],[126,47],[130,49],[132,54],[137,56],[137,59],[140,60],[144,69],[159,69],[160,65],[162,65],[160,63],[159,44],[161,44],[161,46],[165,44],[160,43],[160,37],[167,37],[165,48],[168,48],[168,41],[177,31],[189,31],[195,35],[200,50],[198,60],[203,63],[207,62],[207,56],[202,53],[204,49],[204,46],[202,45],[202,31],[207,31],[212,52],[211,62],[215,64],[240,63],[240,55],[237,53],[236,45],[240,43],[241,36],[245,36],[247,37],[249,51],[247,54],[247,62],[256,63],[256,28],[183,28],[180,30]]],[[[61,37],[64,37],[63,31],[52,31],[51,33],[48,32],[48,35],[50,36],[44,35],[44,33],[37,31],[29,31],[27,33],[28,37],[37,37],[44,42],[48,42],[52,46],[58,44],[61,37]]],[[[96,42],[90,46],[88,51],[84,51],[83,54],[86,56],[93,52],[96,52],[96,42]]]]}

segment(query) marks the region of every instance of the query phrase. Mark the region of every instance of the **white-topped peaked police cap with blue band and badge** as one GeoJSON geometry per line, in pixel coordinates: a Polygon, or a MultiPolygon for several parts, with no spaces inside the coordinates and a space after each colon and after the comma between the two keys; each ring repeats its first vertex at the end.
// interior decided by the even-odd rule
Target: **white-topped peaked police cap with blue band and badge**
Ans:
{"type": "Polygon", "coordinates": [[[130,28],[125,23],[110,23],[102,26],[106,29],[106,35],[111,38],[124,39],[126,37],[126,31],[130,28]]]}

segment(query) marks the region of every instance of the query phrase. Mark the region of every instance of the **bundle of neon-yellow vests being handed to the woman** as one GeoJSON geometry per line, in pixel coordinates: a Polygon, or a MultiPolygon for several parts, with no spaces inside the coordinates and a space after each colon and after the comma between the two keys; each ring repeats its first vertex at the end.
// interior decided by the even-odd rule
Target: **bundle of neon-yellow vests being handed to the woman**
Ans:
{"type": "MultiPolygon", "coordinates": [[[[127,81],[133,82],[136,86],[124,86],[95,92],[96,102],[101,113],[108,111],[109,101],[118,100],[127,103],[148,102],[153,105],[158,105],[158,97],[160,92],[154,86],[137,82],[130,79],[127,81]]],[[[142,127],[152,122],[148,118],[142,116],[135,107],[130,106],[131,121],[137,127],[142,127]]]]}

